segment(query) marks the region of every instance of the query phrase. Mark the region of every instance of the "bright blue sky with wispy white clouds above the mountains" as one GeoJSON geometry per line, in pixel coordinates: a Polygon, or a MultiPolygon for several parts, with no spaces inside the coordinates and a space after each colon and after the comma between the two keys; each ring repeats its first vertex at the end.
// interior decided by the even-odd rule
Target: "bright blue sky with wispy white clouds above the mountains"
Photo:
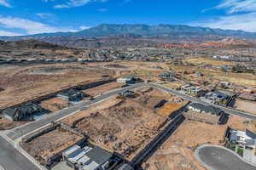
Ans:
{"type": "Polygon", "coordinates": [[[0,0],[0,36],[80,31],[102,23],[256,31],[256,0],[0,0]]]}

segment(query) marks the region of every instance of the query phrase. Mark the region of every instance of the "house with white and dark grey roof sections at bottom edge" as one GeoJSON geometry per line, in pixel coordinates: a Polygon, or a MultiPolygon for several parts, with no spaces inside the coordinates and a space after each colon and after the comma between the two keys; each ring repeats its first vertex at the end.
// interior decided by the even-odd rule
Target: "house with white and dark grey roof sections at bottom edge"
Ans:
{"type": "Polygon", "coordinates": [[[63,160],[73,170],[107,170],[113,153],[95,145],[81,148],[75,144],[62,152],[63,160]]]}

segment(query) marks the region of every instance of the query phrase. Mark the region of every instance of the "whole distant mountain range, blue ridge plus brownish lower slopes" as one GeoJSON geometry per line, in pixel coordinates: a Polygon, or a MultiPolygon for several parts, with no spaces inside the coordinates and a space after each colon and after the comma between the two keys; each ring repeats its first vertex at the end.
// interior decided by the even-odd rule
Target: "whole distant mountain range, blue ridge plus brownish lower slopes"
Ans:
{"type": "Polygon", "coordinates": [[[212,29],[200,26],[102,24],[77,32],[56,32],[21,37],[0,37],[4,41],[36,39],[74,48],[150,46],[166,42],[207,42],[226,37],[254,40],[256,32],[212,29]]]}

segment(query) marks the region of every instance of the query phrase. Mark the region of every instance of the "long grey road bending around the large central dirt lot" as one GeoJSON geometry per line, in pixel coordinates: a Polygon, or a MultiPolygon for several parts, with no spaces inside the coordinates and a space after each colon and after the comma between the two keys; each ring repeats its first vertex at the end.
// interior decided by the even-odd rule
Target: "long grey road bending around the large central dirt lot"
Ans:
{"type": "MultiPolygon", "coordinates": [[[[201,101],[201,99],[194,98],[194,97],[191,97],[191,96],[186,95],[186,94],[181,94],[181,93],[177,92],[176,90],[173,90],[173,89],[170,89],[170,88],[165,88],[165,87],[160,86],[158,84],[137,83],[137,84],[131,85],[130,87],[127,87],[127,88],[121,88],[121,89],[118,89],[118,90],[111,91],[107,94],[102,94],[101,96],[96,97],[95,100],[88,101],[88,102],[80,102],[78,105],[73,105],[71,107],[68,107],[67,109],[55,112],[54,114],[52,113],[49,116],[45,116],[45,117],[43,117],[42,119],[39,119],[36,122],[32,122],[32,123],[26,124],[25,126],[15,128],[15,130],[8,133],[7,136],[10,139],[19,139],[23,135],[25,135],[27,133],[31,133],[32,131],[38,129],[39,127],[43,127],[44,125],[47,125],[50,122],[55,122],[55,121],[61,119],[62,117],[70,116],[75,111],[80,111],[81,109],[86,109],[88,106],[96,104],[97,102],[100,102],[104,99],[108,99],[109,97],[111,97],[115,94],[125,92],[125,90],[128,90],[128,89],[132,90],[132,89],[135,89],[135,88],[142,88],[144,86],[150,86],[150,87],[153,87],[153,88],[160,88],[161,90],[164,90],[168,93],[178,95],[178,96],[182,97],[183,99],[187,99],[187,100],[192,101],[192,102],[201,103],[203,105],[209,105],[207,102],[201,101]]],[[[225,107],[219,106],[219,105],[213,105],[213,106],[218,107],[218,108],[222,109],[223,111],[225,111],[226,113],[231,114],[231,115],[243,116],[243,117],[246,117],[246,118],[249,118],[249,119],[252,119],[252,120],[256,120],[256,116],[253,116],[251,114],[248,114],[248,113],[245,113],[245,112],[242,112],[242,111],[232,110],[232,109],[225,108],[225,107]]]]}

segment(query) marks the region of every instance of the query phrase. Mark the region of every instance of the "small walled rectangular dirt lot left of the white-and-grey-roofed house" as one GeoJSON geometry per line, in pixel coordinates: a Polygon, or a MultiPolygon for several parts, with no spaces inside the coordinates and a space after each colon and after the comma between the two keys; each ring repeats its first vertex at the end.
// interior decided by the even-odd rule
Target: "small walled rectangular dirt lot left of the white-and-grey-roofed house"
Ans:
{"type": "MultiPolygon", "coordinates": [[[[80,139],[82,139],[82,137],[59,127],[49,133],[45,133],[37,139],[33,139],[31,142],[22,142],[21,146],[31,156],[44,164],[49,156],[54,156],[61,150],[67,149],[67,147],[75,144],[80,139]]],[[[25,140],[26,138],[24,141],[25,140]]]]}

